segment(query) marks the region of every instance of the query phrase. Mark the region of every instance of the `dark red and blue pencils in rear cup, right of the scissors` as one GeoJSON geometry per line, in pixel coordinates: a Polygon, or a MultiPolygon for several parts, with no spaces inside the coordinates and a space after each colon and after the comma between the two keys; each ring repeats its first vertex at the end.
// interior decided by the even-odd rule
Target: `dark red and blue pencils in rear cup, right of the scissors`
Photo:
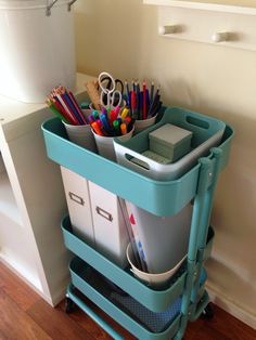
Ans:
{"type": "Polygon", "coordinates": [[[154,91],[154,81],[151,82],[151,89],[146,87],[146,81],[142,82],[142,90],[139,81],[131,82],[131,90],[128,81],[125,81],[127,105],[132,113],[132,118],[142,120],[154,117],[162,107],[159,86],[154,91]]]}

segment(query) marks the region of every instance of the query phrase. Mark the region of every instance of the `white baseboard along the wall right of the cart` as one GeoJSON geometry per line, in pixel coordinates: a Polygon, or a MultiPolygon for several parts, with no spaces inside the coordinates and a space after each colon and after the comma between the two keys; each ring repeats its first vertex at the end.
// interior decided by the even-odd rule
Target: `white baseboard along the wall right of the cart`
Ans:
{"type": "Polygon", "coordinates": [[[206,283],[206,288],[209,293],[210,300],[217,304],[219,308],[233,315],[242,323],[248,325],[249,327],[256,329],[256,314],[246,311],[244,308],[235,304],[227,296],[218,291],[215,287],[206,283]]]}

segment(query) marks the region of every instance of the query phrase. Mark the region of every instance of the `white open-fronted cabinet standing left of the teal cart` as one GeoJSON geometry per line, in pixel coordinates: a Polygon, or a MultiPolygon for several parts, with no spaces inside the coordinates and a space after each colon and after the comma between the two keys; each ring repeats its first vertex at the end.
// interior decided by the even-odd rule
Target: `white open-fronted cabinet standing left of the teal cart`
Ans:
{"type": "MultiPolygon", "coordinates": [[[[89,79],[77,74],[78,101],[89,79]]],[[[54,305],[65,293],[69,253],[59,226],[67,211],[60,168],[41,133],[51,116],[44,104],[0,96],[0,260],[54,305]]]]}

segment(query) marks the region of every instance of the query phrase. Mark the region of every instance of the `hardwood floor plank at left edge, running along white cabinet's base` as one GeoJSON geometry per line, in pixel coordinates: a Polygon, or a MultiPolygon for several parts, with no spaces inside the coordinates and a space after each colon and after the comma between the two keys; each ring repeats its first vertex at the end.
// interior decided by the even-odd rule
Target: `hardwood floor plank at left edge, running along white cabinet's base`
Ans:
{"type": "Polygon", "coordinates": [[[0,262],[0,287],[23,310],[29,309],[40,299],[18,276],[0,262]]]}

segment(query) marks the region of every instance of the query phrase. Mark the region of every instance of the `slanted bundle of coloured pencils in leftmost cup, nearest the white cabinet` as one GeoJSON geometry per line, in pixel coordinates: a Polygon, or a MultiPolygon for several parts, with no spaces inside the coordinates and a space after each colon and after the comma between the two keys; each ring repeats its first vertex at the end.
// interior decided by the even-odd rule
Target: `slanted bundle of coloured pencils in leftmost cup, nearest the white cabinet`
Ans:
{"type": "Polygon", "coordinates": [[[47,105],[57,118],[66,123],[73,126],[87,123],[73,93],[62,86],[52,89],[47,97],[47,105]]]}

